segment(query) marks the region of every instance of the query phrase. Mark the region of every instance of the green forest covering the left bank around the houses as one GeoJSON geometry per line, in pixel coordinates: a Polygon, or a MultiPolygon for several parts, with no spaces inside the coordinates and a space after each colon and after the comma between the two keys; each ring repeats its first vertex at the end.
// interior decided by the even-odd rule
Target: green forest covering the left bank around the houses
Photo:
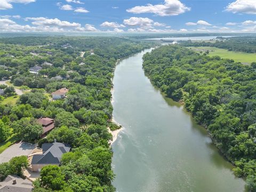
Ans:
{"type": "MultiPolygon", "coordinates": [[[[111,87],[117,59],[149,48],[115,37],[14,37],[0,43],[0,147],[7,142],[67,143],[61,166],[43,167],[33,191],[115,191],[111,181],[111,87]],[[46,64],[44,64],[46,63],[46,64]],[[48,63],[48,64],[47,64],[48,63]],[[50,64],[51,65],[50,65],[50,64]],[[29,68],[41,66],[38,73],[29,68]],[[16,95],[14,87],[23,91],[16,95]],[[66,87],[65,99],[52,101],[53,91],[66,87]],[[15,102],[6,102],[10,99],[15,102]],[[54,119],[55,129],[41,139],[37,118],[54,119]]],[[[1,152],[0,152],[1,153],[1,152]]],[[[0,164],[0,180],[23,176],[27,157],[0,164]]]]}

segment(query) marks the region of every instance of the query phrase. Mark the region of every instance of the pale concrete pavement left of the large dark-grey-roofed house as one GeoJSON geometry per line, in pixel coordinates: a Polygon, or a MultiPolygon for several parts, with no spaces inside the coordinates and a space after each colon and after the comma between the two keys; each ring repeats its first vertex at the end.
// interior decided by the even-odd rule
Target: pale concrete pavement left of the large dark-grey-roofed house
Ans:
{"type": "Polygon", "coordinates": [[[26,155],[28,156],[36,145],[28,142],[15,143],[0,154],[0,163],[9,162],[12,157],[26,155]]]}

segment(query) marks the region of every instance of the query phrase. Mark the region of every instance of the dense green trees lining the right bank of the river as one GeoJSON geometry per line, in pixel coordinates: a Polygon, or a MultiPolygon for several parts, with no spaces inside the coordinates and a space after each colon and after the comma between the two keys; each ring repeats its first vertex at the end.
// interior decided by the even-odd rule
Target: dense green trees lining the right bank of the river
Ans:
{"type": "Polygon", "coordinates": [[[143,56],[150,80],[185,108],[211,134],[256,191],[256,63],[209,57],[180,46],[162,46],[143,56]]]}

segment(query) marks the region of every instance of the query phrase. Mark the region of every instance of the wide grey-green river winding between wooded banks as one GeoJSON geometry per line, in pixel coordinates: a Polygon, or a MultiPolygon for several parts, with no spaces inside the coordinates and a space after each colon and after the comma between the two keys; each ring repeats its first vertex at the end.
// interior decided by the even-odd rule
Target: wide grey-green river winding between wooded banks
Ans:
{"type": "Polygon", "coordinates": [[[113,143],[113,185],[119,192],[244,191],[206,130],[145,76],[142,55],[150,50],[115,69],[113,117],[124,129],[113,143]]]}

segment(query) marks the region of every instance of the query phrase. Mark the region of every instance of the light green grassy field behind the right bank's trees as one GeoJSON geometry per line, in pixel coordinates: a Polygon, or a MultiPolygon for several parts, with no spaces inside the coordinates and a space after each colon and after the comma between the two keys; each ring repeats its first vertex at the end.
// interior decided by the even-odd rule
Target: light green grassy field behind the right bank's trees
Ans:
{"type": "Polygon", "coordinates": [[[209,50],[209,55],[219,55],[223,59],[233,59],[236,62],[241,62],[245,65],[249,65],[252,62],[256,62],[256,53],[243,53],[243,52],[235,52],[228,51],[225,49],[219,49],[217,47],[188,47],[196,52],[209,50]]]}

